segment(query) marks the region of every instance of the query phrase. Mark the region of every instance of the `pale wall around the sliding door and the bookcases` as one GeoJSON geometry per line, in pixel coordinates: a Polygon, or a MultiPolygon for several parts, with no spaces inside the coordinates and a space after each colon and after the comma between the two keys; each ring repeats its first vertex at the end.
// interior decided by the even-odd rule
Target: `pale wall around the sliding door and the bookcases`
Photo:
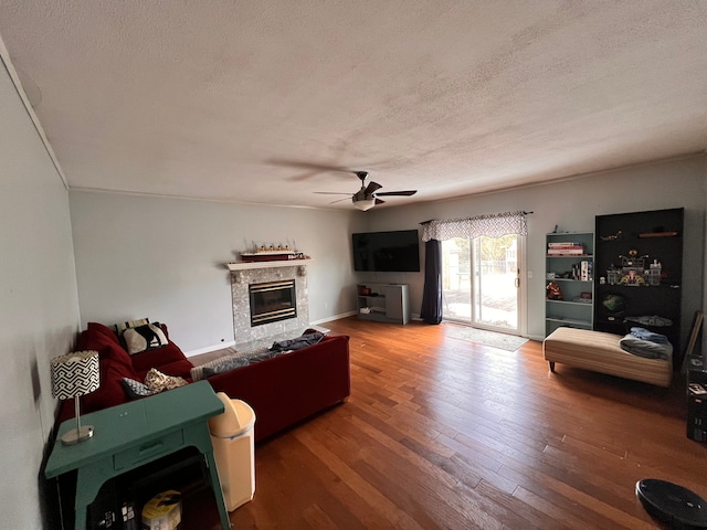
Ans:
{"type": "MultiPolygon", "coordinates": [[[[705,157],[621,168],[582,178],[519,190],[460,198],[395,209],[373,210],[376,230],[401,230],[429,219],[452,219],[508,211],[532,211],[528,216],[527,261],[528,336],[545,335],[545,234],[557,224],[561,231],[594,231],[594,216],[685,208],[683,256],[683,338],[694,311],[703,307],[705,241],[705,157]]],[[[408,274],[413,312],[420,312],[423,274],[408,274]]],[[[402,279],[391,279],[402,282],[402,279]]],[[[685,343],[683,341],[683,343],[685,343]]]]}

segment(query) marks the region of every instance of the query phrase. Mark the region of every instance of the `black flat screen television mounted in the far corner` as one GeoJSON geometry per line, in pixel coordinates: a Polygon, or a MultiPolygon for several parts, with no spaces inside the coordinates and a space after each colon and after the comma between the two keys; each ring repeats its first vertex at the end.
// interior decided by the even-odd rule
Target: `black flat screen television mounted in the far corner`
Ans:
{"type": "Polygon", "coordinates": [[[352,234],[354,269],[373,273],[419,273],[420,239],[416,230],[352,234]]]}

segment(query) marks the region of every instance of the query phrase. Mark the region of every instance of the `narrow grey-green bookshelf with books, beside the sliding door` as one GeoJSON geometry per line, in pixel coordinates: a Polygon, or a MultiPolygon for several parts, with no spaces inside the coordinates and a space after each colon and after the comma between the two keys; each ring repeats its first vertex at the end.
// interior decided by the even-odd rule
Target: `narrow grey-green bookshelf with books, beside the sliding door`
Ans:
{"type": "Polygon", "coordinates": [[[546,236],[545,335],[559,327],[592,329],[594,234],[552,232],[546,236]]]}

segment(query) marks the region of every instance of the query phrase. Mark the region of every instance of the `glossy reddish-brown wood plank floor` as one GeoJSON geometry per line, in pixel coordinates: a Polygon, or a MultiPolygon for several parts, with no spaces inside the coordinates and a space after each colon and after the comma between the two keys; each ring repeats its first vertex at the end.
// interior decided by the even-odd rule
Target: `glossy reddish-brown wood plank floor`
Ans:
{"type": "Polygon", "coordinates": [[[326,326],[351,337],[351,398],[256,446],[233,528],[647,529],[664,527],[641,478],[707,498],[679,382],[552,374],[539,342],[508,352],[450,324],[326,326]]]}

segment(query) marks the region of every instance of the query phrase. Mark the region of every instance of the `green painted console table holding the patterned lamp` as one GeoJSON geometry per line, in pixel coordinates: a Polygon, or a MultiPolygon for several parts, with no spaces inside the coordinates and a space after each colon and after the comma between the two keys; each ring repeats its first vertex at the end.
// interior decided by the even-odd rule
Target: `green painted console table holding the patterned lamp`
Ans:
{"type": "Polygon", "coordinates": [[[76,427],[67,420],[59,427],[44,476],[55,478],[76,470],[74,504],[76,530],[85,530],[86,512],[101,486],[137,467],[184,447],[203,455],[223,530],[231,528],[213,458],[209,417],[223,412],[223,403],[207,381],[81,416],[94,435],[76,445],[62,445],[62,435],[76,427]]]}

